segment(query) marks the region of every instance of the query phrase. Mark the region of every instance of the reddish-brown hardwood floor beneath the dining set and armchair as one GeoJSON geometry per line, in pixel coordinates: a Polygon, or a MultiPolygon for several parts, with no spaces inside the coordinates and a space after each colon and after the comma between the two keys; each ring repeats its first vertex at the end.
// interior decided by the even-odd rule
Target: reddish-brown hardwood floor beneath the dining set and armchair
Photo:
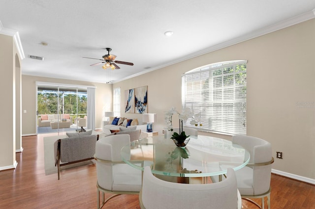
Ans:
{"type": "MultiPolygon", "coordinates": [[[[0,172],[0,209],[96,208],[95,164],[63,171],[58,181],[57,174],[45,175],[42,134],[22,137],[22,146],[24,151],[16,154],[17,168],[0,172]]],[[[315,185],[273,174],[271,187],[272,209],[315,209],[315,185]]],[[[138,195],[120,195],[105,206],[140,208],[138,195]]],[[[257,207],[243,200],[243,208],[257,207]]]]}

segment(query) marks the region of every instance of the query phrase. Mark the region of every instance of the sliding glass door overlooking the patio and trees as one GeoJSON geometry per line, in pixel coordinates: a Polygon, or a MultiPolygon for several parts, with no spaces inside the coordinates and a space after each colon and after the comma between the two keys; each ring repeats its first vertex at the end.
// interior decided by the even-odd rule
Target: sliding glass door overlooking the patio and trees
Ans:
{"type": "Polygon", "coordinates": [[[37,85],[37,133],[86,127],[87,98],[86,88],[37,85]]]}

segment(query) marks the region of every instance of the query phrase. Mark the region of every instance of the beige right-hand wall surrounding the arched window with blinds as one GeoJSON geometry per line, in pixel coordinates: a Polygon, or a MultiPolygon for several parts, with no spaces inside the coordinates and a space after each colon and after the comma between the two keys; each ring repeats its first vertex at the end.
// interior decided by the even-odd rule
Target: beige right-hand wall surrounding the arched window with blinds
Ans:
{"type": "Polygon", "coordinates": [[[161,134],[164,111],[181,110],[183,73],[238,59],[248,60],[247,135],[271,142],[273,169],[315,180],[315,19],[114,83],[121,87],[122,116],[141,119],[124,113],[124,91],[148,85],[148,111],[157,113],[154,130],[161,134]],[[277,151],[283,159],[276,158],[277,151]]]}

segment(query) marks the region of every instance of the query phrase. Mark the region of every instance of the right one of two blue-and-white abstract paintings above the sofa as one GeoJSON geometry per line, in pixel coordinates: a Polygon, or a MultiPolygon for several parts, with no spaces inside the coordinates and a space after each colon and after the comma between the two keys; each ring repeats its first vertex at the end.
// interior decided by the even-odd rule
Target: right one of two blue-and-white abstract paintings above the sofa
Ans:
{"type": "Polygon", "coordinates": [[[148,86],[134,89],[135,113],[148,113],[148,86]]]}

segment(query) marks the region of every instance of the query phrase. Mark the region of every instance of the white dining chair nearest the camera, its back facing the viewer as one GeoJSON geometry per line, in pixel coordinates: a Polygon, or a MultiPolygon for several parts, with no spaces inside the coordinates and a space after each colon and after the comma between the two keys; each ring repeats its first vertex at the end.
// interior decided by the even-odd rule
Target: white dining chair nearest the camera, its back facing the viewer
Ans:
{"type": "Polygon", "coordinates": [[[227,178],[222,182],[187,184],[160,180],[146,166],[139,202],[141,209],[236,209],[241,206],[232,168],[227,170],[227,178]]]}

